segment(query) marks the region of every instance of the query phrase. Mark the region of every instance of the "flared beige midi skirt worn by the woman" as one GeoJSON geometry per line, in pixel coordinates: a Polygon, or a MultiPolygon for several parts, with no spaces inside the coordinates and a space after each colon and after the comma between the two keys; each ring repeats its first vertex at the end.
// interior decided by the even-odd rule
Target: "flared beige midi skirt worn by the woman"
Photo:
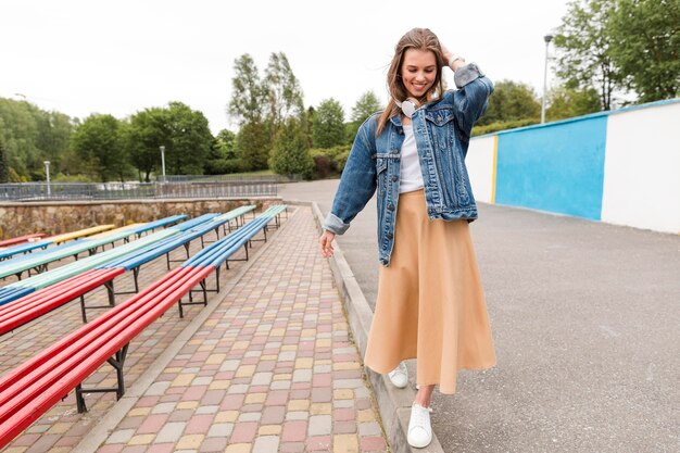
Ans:
{"type": "Polygon", "coordinates": [[[430,221],[423,190],[399,196],[364,363],[386,374],[407,358],[417,358],[418,385],[446,394],[455,393],[458,369],[495,365],[468,222],[430,221]]]}

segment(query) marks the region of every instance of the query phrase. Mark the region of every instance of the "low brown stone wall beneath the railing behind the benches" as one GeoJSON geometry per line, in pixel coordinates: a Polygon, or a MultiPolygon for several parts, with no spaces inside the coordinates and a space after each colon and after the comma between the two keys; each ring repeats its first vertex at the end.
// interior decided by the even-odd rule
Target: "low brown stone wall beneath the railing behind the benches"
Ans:
{"type": "Polygon", "coordinates": [[[48,236],[75,231],[102,224],[116,227],[156,221],[175,214],[189,218],[201,214],[225,213],[244,204],[257,205],[257,212],[280,198],[243,199],[176,199],[176,200],[115,200],[115,201],[53,201],[0,203],[0,239],[32,232],[48,236]]]}

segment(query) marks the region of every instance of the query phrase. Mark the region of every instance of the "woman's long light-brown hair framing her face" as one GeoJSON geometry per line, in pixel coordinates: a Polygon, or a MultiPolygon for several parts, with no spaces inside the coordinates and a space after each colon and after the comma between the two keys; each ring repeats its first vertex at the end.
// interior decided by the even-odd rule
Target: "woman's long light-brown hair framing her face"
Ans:
{"type": "Polygon", "coordinates": [[[406,87],[404,87],[404,83],[401,77],[401,67],[404,62],[404,54],[408,49],[416,50],[429,50],[435,54],[435,61],[437,62],[437,75],[435,78],[435,83],[432,87],[425,93],[425,96],[417,101],[423,103],[432,99],[435,93],[441,96],[444,91],[444,83],[441,77],[442,67],[444,66],[444,59],[441,53],[441,45],[439,43],[439,39],[437,35],[435,35],[429,28],[413,28],[408,33],[406,33],[402,38],[396,42],[396,47],[394,48],[394,56],[392,58],[392,62],[390,63],[390,70],[387,73],[387,88],[388,93],[390,96],[390,101],[388,102],[387,109],[380,115],[380,119],[378,119],[378,128],[376,130],[376,136],[379,136],[385,129],[385,125],[387,122],[396,115],[400,114],[401,109],[394,102],[395,99],[404,100],[408,96],[406,87]]]}

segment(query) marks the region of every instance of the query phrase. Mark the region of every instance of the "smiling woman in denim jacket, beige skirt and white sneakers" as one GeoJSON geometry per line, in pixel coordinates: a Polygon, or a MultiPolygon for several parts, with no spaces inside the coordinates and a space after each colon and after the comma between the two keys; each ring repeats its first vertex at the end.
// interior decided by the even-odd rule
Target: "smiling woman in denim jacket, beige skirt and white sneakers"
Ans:
{"type": "Polygon", "coordinates": [[[493,85],[432,32],[414,28],[396,45],[388,88],[387,109],[356,135],[319,246],[331,256],[335,236],[377,189],[382,266],[364,362],[403,388],[408,377],[402,362],[417,358],[407,439],[424,448],[432,438],[435,386],[453,394],[458,369],[495,364],[468,230],[477,206],[464,161],[493,85]],[[444,90],[445,65],[454,71],[456,91],[444,90]]]}

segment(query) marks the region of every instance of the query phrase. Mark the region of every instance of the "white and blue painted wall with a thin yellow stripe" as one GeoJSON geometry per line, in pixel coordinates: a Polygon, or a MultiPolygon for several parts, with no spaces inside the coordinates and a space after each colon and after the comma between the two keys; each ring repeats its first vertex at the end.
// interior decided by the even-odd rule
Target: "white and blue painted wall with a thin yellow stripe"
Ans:
{"type": "Polygon", "coordinates": [[[680,99],[470,141],[478,201],[680,234],[680,99]]]}

